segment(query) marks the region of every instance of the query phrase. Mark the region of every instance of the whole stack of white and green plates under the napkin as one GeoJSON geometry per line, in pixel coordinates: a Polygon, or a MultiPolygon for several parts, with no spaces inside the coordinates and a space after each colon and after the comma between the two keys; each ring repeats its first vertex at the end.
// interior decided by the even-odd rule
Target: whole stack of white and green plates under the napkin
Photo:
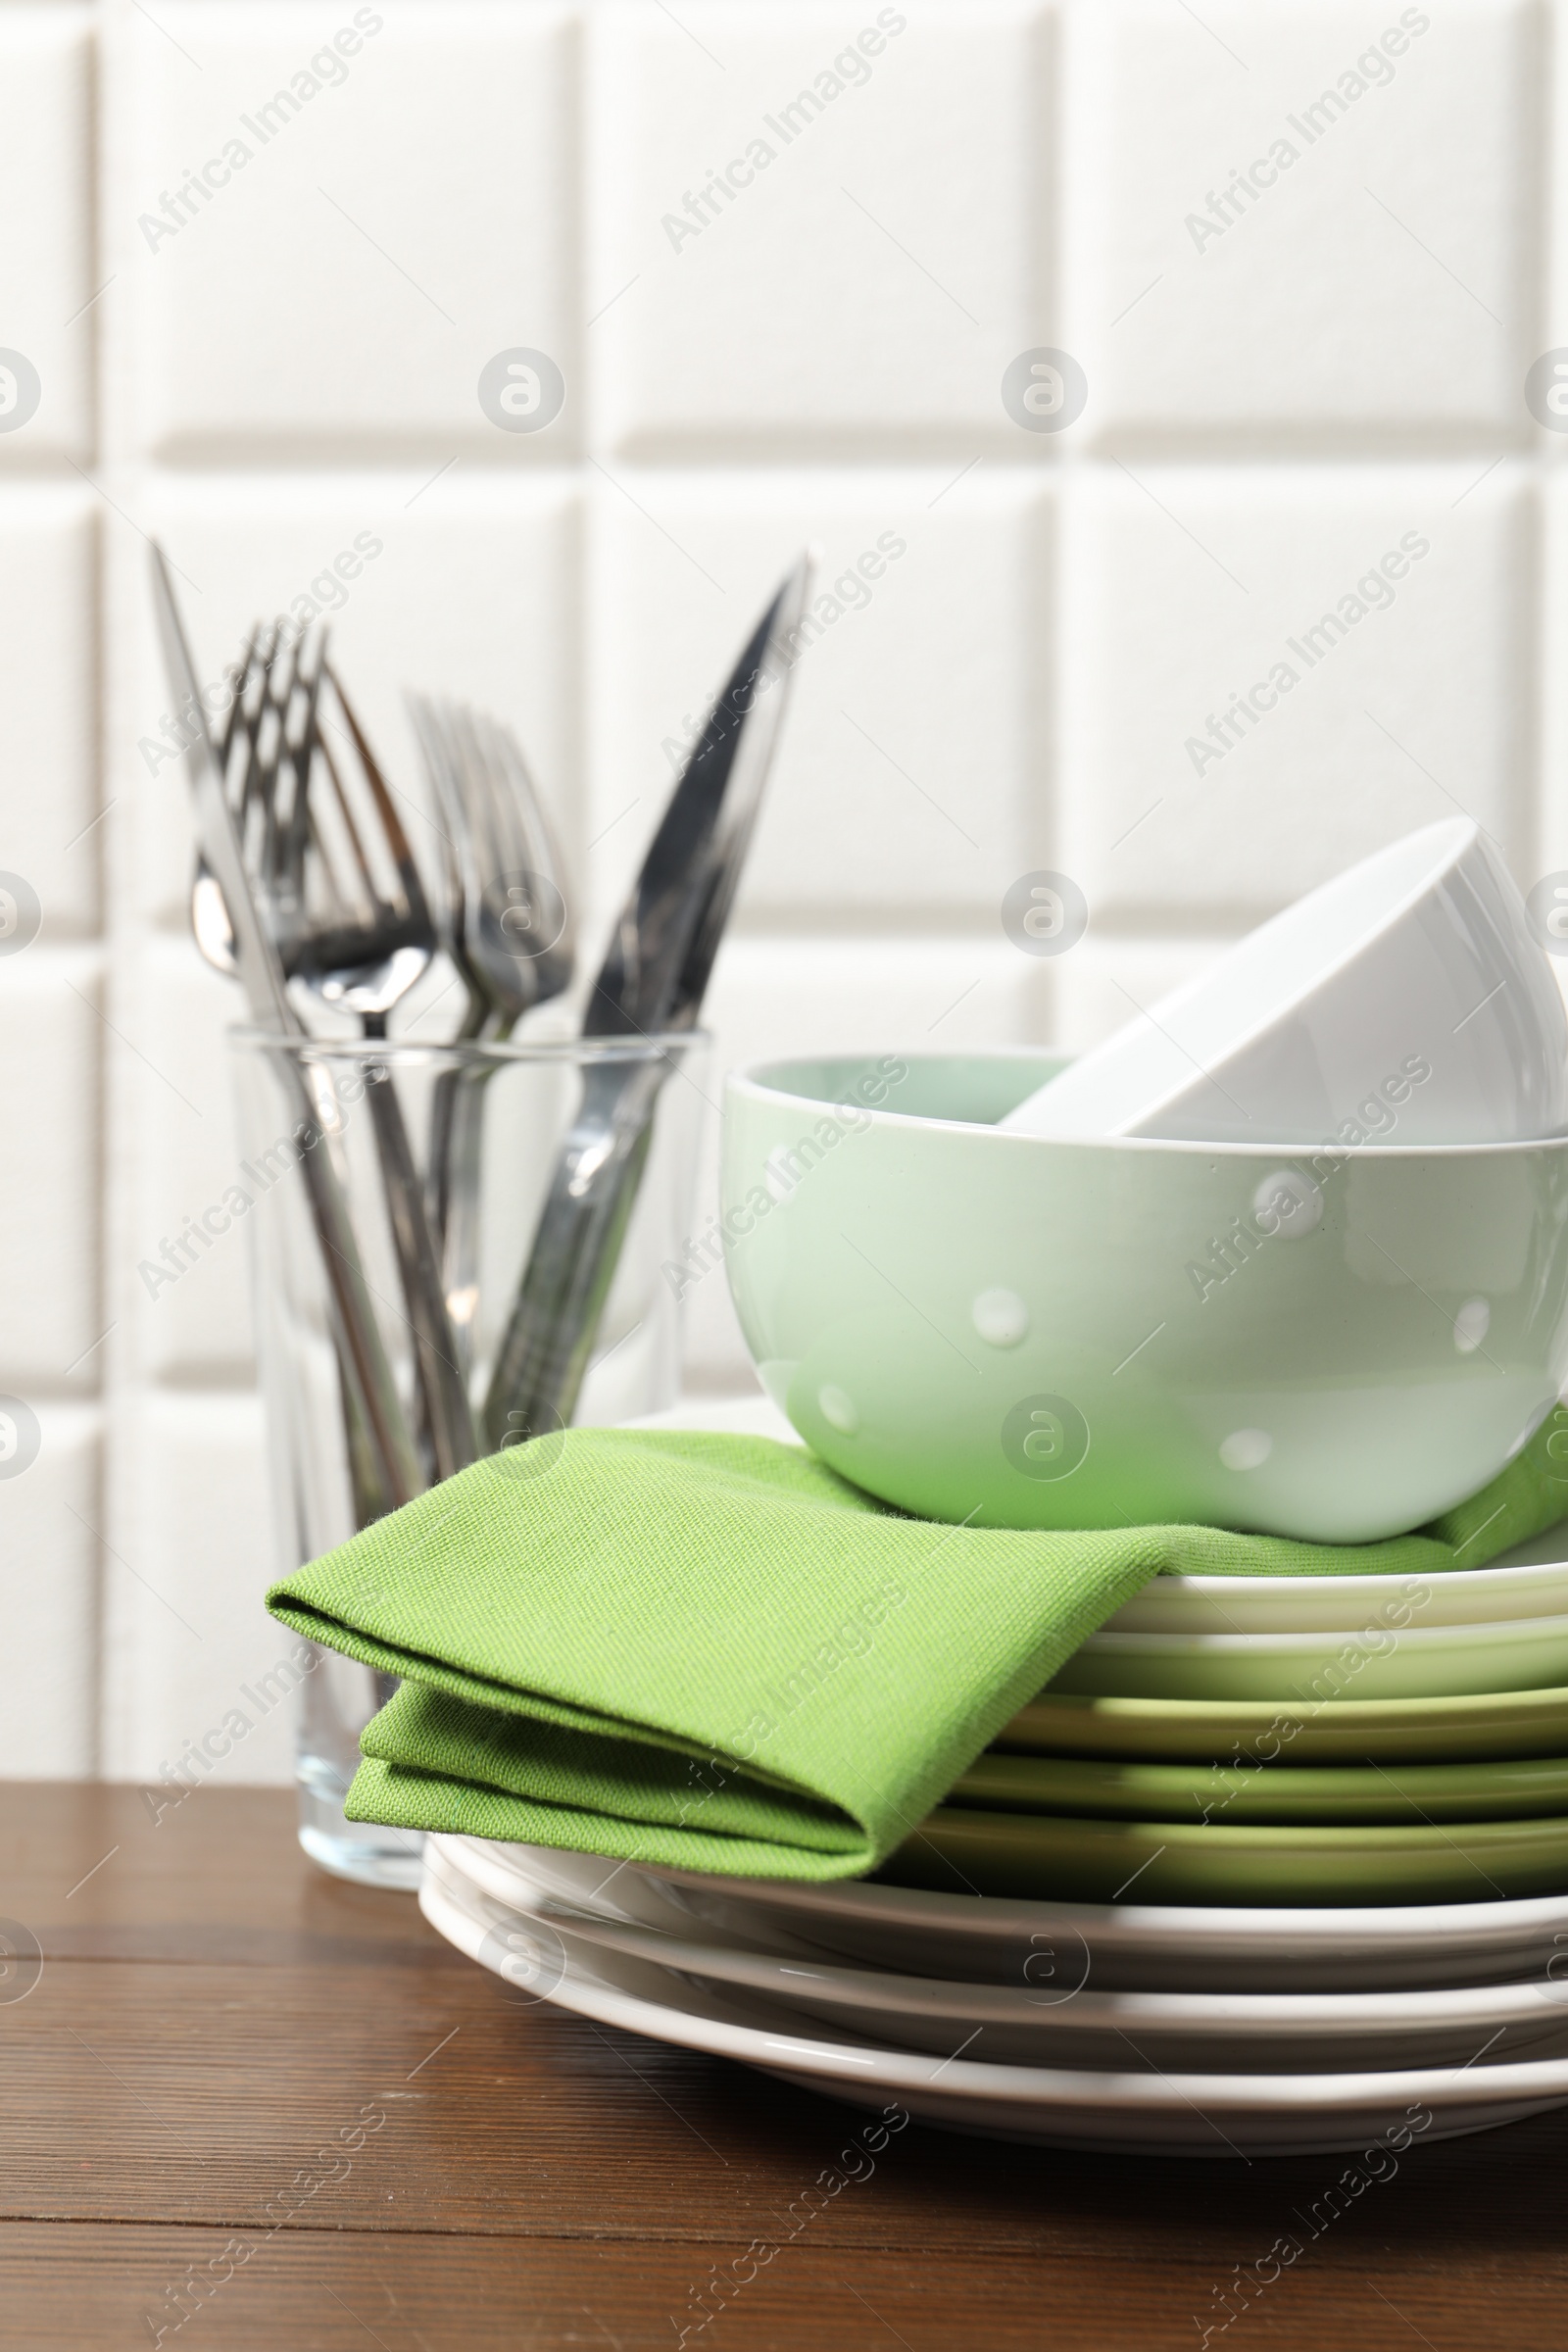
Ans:
{"type": "Polygon", "coordinates": [[[1159,1578],[872,1884],[433,1837],[421,1903],[527,1997],[961,2131],[1225,2157],[1505,2124],[1568,2103],[1554,1550],[1159,1578]]]}

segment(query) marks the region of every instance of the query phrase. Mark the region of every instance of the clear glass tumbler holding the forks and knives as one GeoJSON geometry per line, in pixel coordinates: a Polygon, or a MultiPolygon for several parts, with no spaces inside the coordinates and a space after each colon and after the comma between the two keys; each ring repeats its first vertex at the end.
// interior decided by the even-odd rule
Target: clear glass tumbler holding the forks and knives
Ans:
{"type": "MultiPolygon", "coordinates": [[[[280,1573],[473,1454],[675,1404],[705,1049],[233,1033],[244,1157],[226,1211],[252,1237],[280,1573]]],[[[416,1886],[418,1835],[343,1816],[393,1689],[315,1651],[299,1839],[336,1877],[416,1886]]]]}

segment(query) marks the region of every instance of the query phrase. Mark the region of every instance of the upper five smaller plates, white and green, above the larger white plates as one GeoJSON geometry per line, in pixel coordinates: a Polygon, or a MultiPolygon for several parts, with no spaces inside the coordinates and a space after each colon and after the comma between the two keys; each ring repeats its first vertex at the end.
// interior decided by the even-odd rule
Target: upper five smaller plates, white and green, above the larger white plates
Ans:
{"type": "Polygon", "coordinates": [[[1441,1576],[1159,1576],[889,1872],[1091,1903],[1568,1889],[1561,1548],[1554,1529],[1441,1576]]]}

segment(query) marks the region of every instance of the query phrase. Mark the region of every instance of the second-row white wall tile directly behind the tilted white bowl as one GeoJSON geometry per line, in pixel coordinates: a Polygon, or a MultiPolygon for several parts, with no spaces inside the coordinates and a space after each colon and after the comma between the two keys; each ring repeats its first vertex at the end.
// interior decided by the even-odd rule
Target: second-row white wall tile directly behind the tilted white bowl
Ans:
{"type": "Polygon", "coordinates": [[[1079,475],[1060,837],[1091,922],[1244,929],[1460,811],[1523,873],[1533,494],[1479,473],[1079,475]]]}

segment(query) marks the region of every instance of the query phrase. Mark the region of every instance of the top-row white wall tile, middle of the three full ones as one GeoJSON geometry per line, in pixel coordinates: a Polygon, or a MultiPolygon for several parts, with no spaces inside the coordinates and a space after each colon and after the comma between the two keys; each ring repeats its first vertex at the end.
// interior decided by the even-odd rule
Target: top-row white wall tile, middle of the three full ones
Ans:
{"type": "Polygon", "coordinates": [[[595,14],[585,348],[621,456],[957,452],[1046,313],[1051,9],[595,14]]]}

